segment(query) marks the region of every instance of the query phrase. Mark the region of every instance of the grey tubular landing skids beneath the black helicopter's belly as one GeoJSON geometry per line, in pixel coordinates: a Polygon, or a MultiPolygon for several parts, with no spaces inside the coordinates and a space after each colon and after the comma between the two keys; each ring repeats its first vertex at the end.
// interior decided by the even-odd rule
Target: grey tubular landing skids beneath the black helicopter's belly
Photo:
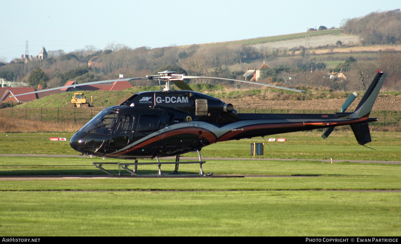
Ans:
{"type": "Polygon", "coordinates": [[[121,169],[124,169],[130,173],[129,175],[132,176],[138,176],[138,177],[194,177],[194,176],[211,176],[213,173],[208,173],[205,174],[202,169],[202,165],[206,163],[206,161],[202,161],[201,158],[201,153],[199,150],[196,150],[199,156],[199,161],[190,161],[190,162],[180,162],[180,155],[176,156],[176,161],[175,162],[160,162],[159,158],[156,157],[157,162],[155,163],[138,163],[138,160],[135,160],[135,163],[95,163],[93,162],[93,165],[95,165],[96,168],[100,169],[107,175],[112,175],[112,176],[122,176],[122,175],[128,175],[128,174],[122,174],[121,169]],[[193,164],[193,163],[198,163],[200,165],[200,171],[199,174],[180,174],[178,173],[178,165],[179,164],[193,164]],[[161,165],[171,165],[175,164],[174,171],[172,174],[163,174],[162,170],[160,169],[161,165]],[[112,173],[106,169],[104,169],[102,166],[103,165],[118,165],[118,174],[112,173]],[[134,165],[134,169],[129,169],[129,166],[134,165]],[[158,166],[158,173],[157,174],[139,174],[137,173],[138,165],[157,165],[158,166]]]}

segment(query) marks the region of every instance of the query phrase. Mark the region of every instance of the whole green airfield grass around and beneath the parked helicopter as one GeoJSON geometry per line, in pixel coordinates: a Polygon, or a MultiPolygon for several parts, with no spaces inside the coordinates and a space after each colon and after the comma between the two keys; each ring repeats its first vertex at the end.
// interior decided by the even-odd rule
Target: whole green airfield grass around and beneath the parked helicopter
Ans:
{"type": "MultiPolygon", "coordinates": [[[[371,150],[352,132],[298,132],[269,142],[263,157],[400,160],[401,133],[372,132],[371,150]],[[331,138],[331,139],[330,139],[331,138]],[[330,140],[329,140],[330,139],[330,140]]],[[[50,136],[0,134],[2,153],[77,154],[50,136]]],[[[275,136],[277,138],[277,136],[275,136]]],[[[253,157],[250,143],[213,144],[203,157],[253,157]]],[[[262,157],[262,156],[258,156],[262,157]]],[[[99,158],[0,157],[2,236],[399,236],[401,165],[318,161],[210,160],[205,173],[232,178],[66,178],[102,175],[99,158]]],[[[113,160],[108,160],[113,161],[113,160]]],[[[173,165],[162,166],[170,173],[173,165]]],[[[116,169],[113,169],[116,172],[116,169]]],[[[156,166],[138,167],[156,173],[156,166]]],[[[197,173],[198,165],[180,165],[197,173]]]]}

